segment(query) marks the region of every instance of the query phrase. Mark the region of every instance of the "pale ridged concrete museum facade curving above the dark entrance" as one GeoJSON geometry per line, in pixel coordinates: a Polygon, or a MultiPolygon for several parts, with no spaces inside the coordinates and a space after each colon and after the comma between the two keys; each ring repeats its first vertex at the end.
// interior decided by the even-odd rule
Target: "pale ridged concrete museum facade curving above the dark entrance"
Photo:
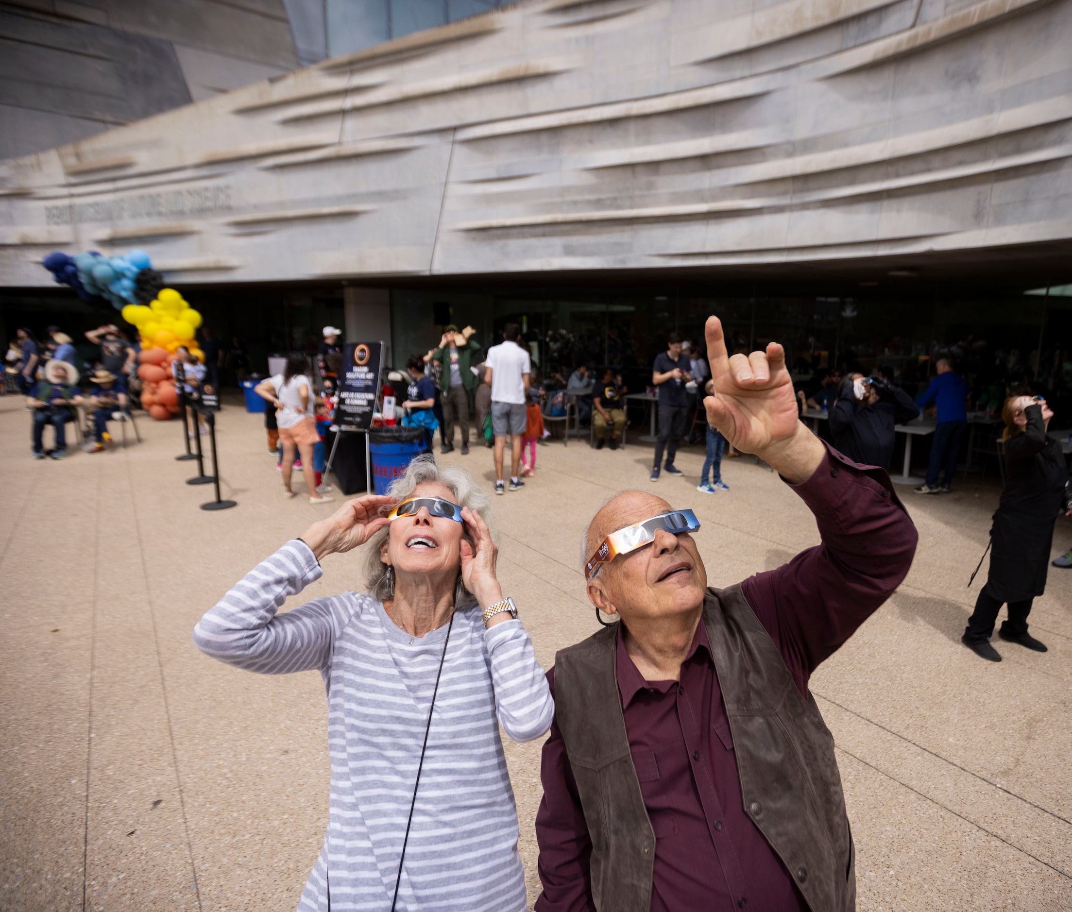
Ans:
{"type": "Polygon", "coordinates": [[[1072,239],[1072,0],[531,0],[0,163],[0,284],[1072,239]]]}

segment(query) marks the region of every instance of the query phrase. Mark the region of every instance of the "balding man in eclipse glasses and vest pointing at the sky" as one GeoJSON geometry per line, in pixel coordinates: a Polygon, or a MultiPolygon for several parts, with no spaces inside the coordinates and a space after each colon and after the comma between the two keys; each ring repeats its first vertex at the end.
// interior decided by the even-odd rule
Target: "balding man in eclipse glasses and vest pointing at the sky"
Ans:
{"type": "Polygon", "coordinates": [[[774,466],[822,543],[709,589],[690,510],[629,491],[584,536],[619,618],[557,654],[536,818],[539,912],[855,908],[833,739],[808,676],[904,579],[915,528],[885,473],[796,417],[781,346],[727,357],[708,320],[708,422],[774,466]]]}

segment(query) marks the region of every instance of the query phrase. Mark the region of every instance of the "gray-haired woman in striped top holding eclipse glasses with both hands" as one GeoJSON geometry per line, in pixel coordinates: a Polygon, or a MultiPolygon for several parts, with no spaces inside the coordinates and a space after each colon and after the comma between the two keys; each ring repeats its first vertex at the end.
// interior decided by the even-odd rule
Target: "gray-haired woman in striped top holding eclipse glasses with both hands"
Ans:
{"type": "Polygon", "coordinates": [[[487,505],[464,470],[418,458],[390,496],[313,523],[194,630],[198,648],[229,664],[324,677],[330,809],[302,912],[525,909],[498,726],[532,741],[554,706],[495,579],[487,505]],[[369,595],[276,613],[319,579],[327,555],[366,542],[369,595]]]}

